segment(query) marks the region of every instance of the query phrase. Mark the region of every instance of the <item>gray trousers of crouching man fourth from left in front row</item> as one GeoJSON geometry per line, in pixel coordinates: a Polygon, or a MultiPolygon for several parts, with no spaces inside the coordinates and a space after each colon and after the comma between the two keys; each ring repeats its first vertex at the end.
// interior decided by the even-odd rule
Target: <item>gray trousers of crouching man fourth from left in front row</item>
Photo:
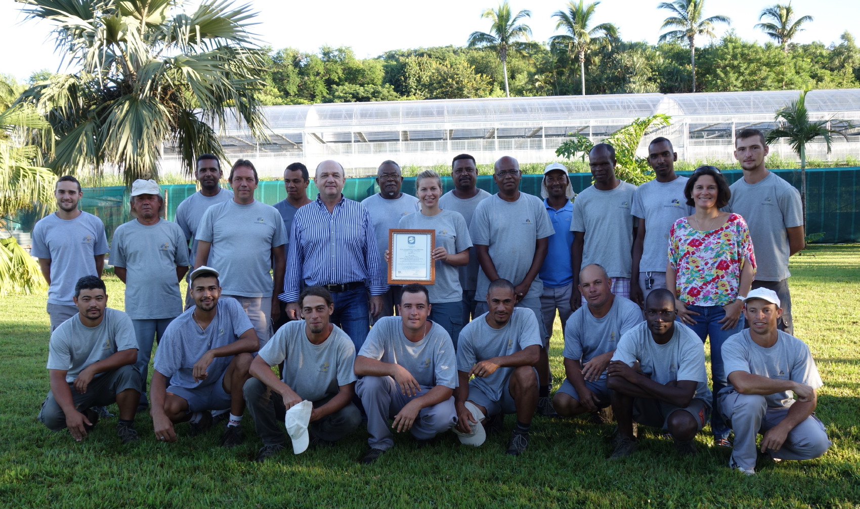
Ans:
{"type": "MultiPolygon", "coordinates": [[[[417,395],[404,396],[392,377],[360,378],[355,384],[355,391],[361,398],[361,404],[367,414],[367,432],[371,434],[367,444],[372,449],[383,451],[390,449],[394,445],[394,440],[391,438],[393,435],[389,420],[393,419],[406,406],[406,403],[426,395],[430,389],[433,388],[422,385],[417,395]]],[[[415,438],[427,440],[456,425],[457,411],[454,409],[454,396],[451,396],[444,402],[421,408],[411,431],[415,438]]]]}

